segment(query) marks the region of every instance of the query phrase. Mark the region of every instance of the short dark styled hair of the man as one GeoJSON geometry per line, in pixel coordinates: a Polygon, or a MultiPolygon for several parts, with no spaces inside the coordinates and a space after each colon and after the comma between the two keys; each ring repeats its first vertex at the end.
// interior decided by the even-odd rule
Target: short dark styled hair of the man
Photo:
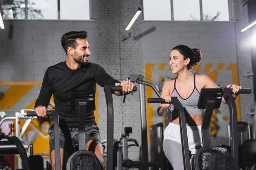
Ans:
{"type": "Polygon", "coordinates": [[[87,38],[86,31],[70,31],[65,33],[61,37],[61,45],[67,54],[68,47],[72,47],[76,49],[76,46],[77,46],[76,39],[86,39],[86,38],[87,38]]]}

